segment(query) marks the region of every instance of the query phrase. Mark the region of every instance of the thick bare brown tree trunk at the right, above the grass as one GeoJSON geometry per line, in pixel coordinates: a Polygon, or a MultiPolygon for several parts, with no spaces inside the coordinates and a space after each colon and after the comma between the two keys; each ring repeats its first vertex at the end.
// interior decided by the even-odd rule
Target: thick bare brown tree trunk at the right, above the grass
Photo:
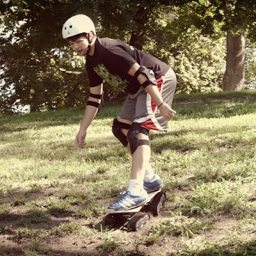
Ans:
{"type": "Polygon", "coordinates": [[[222,81],[223,91],[244,90],[244,49],[245,35],[227,33],[227,63],[222,81]]]}

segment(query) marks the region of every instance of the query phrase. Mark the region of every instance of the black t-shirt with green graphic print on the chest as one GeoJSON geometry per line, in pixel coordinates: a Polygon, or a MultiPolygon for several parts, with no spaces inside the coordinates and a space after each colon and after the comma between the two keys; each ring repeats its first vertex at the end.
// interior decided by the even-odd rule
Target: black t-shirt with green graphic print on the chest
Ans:
{"type": "Polygon", "coordinates": [[[153,70],[156,79],[163,76],[170,68],[163,61],[121,40],[97,38],[93,56],[86,57],[90,87],[106,81],[122,92],[136,93],[141,84],[128,74],[129,69],[136,62],[153,70]]]}

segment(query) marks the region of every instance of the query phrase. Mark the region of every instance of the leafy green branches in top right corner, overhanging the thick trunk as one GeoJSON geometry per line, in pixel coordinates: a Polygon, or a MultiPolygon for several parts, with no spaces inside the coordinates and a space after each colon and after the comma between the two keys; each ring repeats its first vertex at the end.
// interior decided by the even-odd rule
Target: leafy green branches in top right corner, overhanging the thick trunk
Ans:
{"type": "Polygon", "coordinates": [[[216,31],[246,32],[256,40],[256,3],[254,0],[196,0],[187,1],[180,15],[186,24],[193,24],[204,35],[214,35],[216,31]],[[190,13],[190,15],[188,15],[190,13]]]}

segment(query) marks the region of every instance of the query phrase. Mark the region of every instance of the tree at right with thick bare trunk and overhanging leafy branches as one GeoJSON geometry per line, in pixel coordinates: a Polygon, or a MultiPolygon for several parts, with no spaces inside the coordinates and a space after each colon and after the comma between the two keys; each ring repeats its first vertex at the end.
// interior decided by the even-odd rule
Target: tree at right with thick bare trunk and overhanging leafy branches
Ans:
{"type": "Polygon", "coordinates": [[[179,19],[186,20],[187,26],[196,26],[204,35],[216,34],[216,28],[227,33],[227,66],[223,90],[243,90],[244,37],[247,34],[248,38],[256,40],[256,2],[197,0],[188,1],[186,6],[186,12],[181,10],[179,19]]]}

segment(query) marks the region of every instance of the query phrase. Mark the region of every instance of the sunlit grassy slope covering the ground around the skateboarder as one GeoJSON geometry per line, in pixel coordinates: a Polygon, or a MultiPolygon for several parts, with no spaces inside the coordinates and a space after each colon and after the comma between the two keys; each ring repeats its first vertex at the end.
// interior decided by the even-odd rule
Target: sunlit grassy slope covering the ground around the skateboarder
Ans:
{"type": "Polygon", "coordinates": [[[135,234],[100,224],[129,182],[120,106],[102,108],[84,148],[83,109],[1,116],[0,255],[255,255],[256,92],[176,95],[173,109],[169,132],[150,132],[166,212],[135,234]]]}

